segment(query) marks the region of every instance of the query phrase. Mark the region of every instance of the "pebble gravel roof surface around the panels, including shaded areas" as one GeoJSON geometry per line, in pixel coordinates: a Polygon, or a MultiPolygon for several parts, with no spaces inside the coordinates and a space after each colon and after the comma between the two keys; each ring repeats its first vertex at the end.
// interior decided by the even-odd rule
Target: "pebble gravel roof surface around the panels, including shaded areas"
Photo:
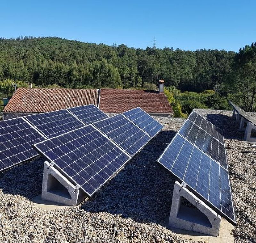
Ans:
{"type": "MultiPolygon", "coordinates": [[[[237,226],[236,242],[256,242],[255,148],[231,111],[196,110],[224,131],[237,226]]],[[[164,129],[91,199],[55,210],[37,208],[38,157],[0,174],[0,242],[189,242],[168,230],[175,178],[156,162],[184,119],[156,117],[164,129]]]]}

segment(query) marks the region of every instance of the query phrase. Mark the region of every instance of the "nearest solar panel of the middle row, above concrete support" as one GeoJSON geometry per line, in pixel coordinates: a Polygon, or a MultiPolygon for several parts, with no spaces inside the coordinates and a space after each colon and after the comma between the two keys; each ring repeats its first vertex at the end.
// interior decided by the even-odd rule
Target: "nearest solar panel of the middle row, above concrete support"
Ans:
{"type": "Polygon", "coordinates": [[[33,145],[92,196],[131,158],[92,125],[33,145]]]}

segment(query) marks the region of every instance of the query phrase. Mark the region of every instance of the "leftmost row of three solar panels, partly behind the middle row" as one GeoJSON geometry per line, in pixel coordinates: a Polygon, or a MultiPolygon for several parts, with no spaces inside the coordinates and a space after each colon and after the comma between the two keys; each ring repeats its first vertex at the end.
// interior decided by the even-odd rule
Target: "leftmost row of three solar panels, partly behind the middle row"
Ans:
{"type": "Polygon", "coordinates": [[[31,148],[32,144],[108,117],[94,105],[72,110],[79,114],[76,116],[63,109],[0,121],[0,128],[3,126],[0,135],[0,171],[37,156],[38,153],[31,148]]]}

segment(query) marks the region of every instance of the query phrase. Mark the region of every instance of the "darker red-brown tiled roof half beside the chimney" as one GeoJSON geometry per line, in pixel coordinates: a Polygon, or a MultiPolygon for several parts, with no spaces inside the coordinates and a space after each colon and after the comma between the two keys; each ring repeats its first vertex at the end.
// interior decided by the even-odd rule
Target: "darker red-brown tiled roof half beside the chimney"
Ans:
{"type": "Polygon", "coordinates": [[[164,93],[147,90],[100,89],[100,109],[121,113],[140,107],[148,113],[174,113],[164,93]]]}

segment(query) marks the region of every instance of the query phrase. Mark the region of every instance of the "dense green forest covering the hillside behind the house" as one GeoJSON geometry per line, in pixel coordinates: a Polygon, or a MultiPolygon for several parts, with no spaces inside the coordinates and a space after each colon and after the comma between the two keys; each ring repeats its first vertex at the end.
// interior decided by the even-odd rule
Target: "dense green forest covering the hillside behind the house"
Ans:
{"type": "Polygon", "coordinates": [[[1,38],[0,80],[6,79],[66,88],[141,88],[164,79],[165,86],[182,92],[214,90],[252,111],[256,47],[252,44],[237,53],[150,47],[144,50],[57,37],[1,38]]]}

